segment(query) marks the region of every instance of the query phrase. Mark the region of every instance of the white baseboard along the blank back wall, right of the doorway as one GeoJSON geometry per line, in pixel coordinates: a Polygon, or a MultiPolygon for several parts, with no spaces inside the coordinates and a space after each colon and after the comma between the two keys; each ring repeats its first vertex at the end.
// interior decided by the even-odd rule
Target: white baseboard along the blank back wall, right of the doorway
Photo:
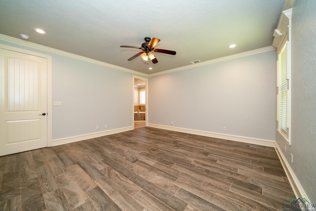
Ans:
{"type": "Polygon", "coordinates": [[[273,140],[251,138],[251,137],[188,129],[188,128],[182,128],[182,127],[170,127],[170,126],[163,126],[163,125],[156,125],[156,124],[148,124],[148,127],[156,127],[160,129],[167,129],[167,130],[172,130],[172,131],[177,131],[177,132],[185,132],[185,133],[202,135],[202,136],[207,136],[207,137],[212,137],[212,138],[221,138],[225,140],[232,140],[232,141],[239,141],[239,142],[250,143],[250,144],[257,144],[261,146],[275,147],[275,141],[273,140]]]}

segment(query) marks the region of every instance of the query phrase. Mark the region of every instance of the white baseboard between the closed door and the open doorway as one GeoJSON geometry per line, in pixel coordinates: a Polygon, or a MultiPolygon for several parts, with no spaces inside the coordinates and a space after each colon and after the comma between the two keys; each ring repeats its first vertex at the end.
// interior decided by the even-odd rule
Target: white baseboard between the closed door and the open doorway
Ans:
{"type": "Polygon", "coordinates": [[[90,138],[97,138],[97,137],[101,137],[104,135],[111,135],[111,134],[125,132],[125,131],[132,130],[132,129],[134,129],[132,126],[131,127],[122,127],[122,128],[118,128],[118,129],[105,130],[105,131],[101,131],[101,132],[94,132],[94,133],[71,136],[71,137],[66,137],[66,138],[53,139],[51,146],[68,144],[68,143],[82,141],[82,140],[86,140],[86,139],[90,139],[90,138]]]}

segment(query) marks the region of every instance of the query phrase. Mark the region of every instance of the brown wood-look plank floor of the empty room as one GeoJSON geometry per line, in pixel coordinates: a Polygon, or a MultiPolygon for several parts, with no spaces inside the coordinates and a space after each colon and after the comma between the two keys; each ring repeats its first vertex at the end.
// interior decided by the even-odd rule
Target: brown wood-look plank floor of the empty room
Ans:
{"type": "Polygon", "coordinates": [[[274,148],[151,127],[0,157],[3,211],[282,210],[274,148]]]}

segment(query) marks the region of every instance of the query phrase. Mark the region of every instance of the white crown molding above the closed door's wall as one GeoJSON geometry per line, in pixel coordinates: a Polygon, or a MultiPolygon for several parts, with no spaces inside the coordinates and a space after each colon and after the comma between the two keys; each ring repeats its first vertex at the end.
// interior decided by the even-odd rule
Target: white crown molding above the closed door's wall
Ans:
{"type": "Polygon", "coordinates": [[[41,45],[41,44],[37,44],[37,43],[34,43],[34,42],[29,42],[29,41],[13,38],[13,37],[6,36],[6,35],[3,35],[3,34],[0,34],[0,40],[5,41],[5,42],[11,42],[11,43],[23,45],[25,47],[35,48],[37,50],[43,50],[43,51],[46,51],[46,52],[49,52],[49,53],[54,53],[54,54],[57,54],[57,55],[67,56],[67,57],[70,57],[70,58],[73,58],[73,59],[78,59],[78,60],[81,60],[81,61],[85,61],[85,62],[97,64],[97,65],[101,65],[101,66],[104,66],[104,67],[109,67],[109,68],[112,68],[112,69],[116,69],[116,70],[120,70],[120,71],[124,71],[124,72],[128,72],[128,73],[132,73],[132,74],[135,74],[135,75],[139,75],[139,76],[143,76],[143,77],[148,78],[148,74],[145,74],[145,73],[140,73],[140,72],[137,72],[137,71],[134,71],[134,70],[130,70],[130,69],[127,69],[127,68],[119,67],[117,65],[109,64],[109,63],[98,61],[98,60],[95,60],[95,59],[90,59],[90,58],[87,58],[87,57],[84,57],[84,56],[79,56],[79,55],[74,54],[74,53],[69,53],[69,52],[66,52],[66,51],[58,50],[58,49],[55,49],[55,48],[52,48],[52,47],[47,47],[47,46],[44,46],[44,45],[41,45]]]}

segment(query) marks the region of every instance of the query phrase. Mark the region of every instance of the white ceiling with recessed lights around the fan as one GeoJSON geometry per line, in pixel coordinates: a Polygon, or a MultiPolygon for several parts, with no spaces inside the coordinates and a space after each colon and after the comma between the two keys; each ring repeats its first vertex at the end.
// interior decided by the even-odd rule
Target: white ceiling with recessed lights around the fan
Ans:
{"type": "Polygon", "coordinates": [[[1,0],[0,34],[146,74],[271,46],[284,0],[1,0]],[[34,28],[42,28],[45,35],[34,28]],[[120,45],[161,41],[158,63],[120,45]],[[228,45],[236,43],[231,49],[228,45]],[[153,67],[153,70],[149,70],[153,67]]]}

